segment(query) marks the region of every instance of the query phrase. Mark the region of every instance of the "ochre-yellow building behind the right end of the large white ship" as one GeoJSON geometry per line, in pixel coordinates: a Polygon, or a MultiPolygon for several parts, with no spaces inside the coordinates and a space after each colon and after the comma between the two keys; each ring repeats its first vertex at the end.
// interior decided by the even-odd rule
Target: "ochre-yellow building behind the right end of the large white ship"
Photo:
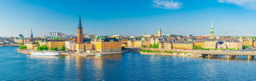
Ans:
{"type": "Polygon", "coordinates": [[[57,47],[58,50],[61,50],[61,46],[65,45],[65,40],[51,40],[48,42],[48,48],[51,49],[51,47],[55,48],[57,47]]]}

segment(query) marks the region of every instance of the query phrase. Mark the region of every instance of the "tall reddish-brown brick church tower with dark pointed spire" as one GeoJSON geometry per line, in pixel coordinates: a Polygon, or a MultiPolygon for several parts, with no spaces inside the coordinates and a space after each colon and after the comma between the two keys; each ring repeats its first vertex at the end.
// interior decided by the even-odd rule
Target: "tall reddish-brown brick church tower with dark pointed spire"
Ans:
{"type": "Polygon", "coordinates": [[[81,24],[80,14],[79,14],[79,25],[77,26],[77,43],[84,43],[83,27],[81,24]]]}

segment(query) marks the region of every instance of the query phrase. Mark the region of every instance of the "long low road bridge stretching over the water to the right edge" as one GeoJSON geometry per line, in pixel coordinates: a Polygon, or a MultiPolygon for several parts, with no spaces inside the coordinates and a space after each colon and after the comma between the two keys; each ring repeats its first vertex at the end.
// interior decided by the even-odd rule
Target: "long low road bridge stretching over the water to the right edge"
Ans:
{"type": "Polygon", "coordinates": [[[154,49],[154,48],[130,48],[131,52],[141,52],[141,50],[157,50],[159,52],[166,51],[172,51],[172,52],[183,52],[183,53],[190,53],[195,56],[200,57],[217,57],[218,55],[226,55],[228,58],[235,58],[236,55],[241,56],[248,56],[248,59],[253,58],[256,55],[256,52],[253,51],[219,51],[219,50],[181,50],[181,49],[173,49],[173,50],[167,50],[167,49],[154,49]]]}

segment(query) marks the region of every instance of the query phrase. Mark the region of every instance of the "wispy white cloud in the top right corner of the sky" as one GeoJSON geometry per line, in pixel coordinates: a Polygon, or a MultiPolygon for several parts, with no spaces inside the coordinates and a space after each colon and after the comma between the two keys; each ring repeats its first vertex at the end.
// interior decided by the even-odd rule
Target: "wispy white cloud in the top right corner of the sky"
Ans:
{"type": "Polygon", "coordinates": [[[256,0],[218,0],[218,2],[236,4],[246,9],[256,10],[256,0]]]}

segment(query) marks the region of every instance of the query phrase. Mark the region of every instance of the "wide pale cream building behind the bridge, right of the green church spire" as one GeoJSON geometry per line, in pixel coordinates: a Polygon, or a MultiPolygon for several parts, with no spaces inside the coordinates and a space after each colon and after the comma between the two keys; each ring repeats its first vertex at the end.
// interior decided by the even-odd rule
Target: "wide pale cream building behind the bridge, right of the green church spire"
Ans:
{"type": "Polygon", "coordinates": [[[240,41],[226,41],[227,48],[235,49],[235,50],[242,50],[242,42],[240,41]]]}

